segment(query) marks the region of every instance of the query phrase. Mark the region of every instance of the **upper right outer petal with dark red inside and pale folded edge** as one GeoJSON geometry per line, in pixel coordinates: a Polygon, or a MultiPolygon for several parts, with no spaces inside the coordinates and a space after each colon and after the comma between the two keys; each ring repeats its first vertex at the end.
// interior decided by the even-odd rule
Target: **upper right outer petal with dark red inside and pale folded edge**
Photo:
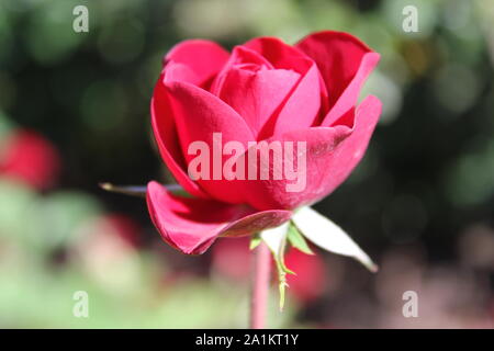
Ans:
{"type": "MultiPolygon", "coordinates": [[[[329,109],[337,104],[344,92],[346,93],[345,99],[338,101],[340,106],[337,116],[355,106],[361,84],[380,57],[358,38],[343,32],[314,33],[296,46],[317,64],[326,82],[329,109]]],[[[326,122],[324,125],[330,123],[326,122]]]]}

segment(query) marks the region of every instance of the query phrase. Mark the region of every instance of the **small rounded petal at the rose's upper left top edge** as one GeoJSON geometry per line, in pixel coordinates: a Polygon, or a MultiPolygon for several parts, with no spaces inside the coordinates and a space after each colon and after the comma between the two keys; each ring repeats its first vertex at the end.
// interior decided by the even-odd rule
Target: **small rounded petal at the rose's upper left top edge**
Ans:
{"type": "Polygon", "coordinates": [[[229,53],[214,42],[190,39],[175,45],[165,56],[165,64],[175,61],[189,67],[198,86],[211,80],[225,65],[229,53]]]}

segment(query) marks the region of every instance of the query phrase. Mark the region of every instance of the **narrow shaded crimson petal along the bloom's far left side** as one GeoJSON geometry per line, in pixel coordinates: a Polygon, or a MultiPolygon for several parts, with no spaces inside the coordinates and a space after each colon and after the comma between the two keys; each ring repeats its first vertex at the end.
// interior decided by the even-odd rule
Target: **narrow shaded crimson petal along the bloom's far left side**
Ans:
{"type": "Polygon", "coordinates": [[[166,70],[155,86],[150,103],[151,125],[156,144],[158,145],[162,160],[183,189],[192,195],[207,197],[200,186],[187,174],[187,165],[177,134],[170,98],[164,86],[165,73],[166,70]]]}

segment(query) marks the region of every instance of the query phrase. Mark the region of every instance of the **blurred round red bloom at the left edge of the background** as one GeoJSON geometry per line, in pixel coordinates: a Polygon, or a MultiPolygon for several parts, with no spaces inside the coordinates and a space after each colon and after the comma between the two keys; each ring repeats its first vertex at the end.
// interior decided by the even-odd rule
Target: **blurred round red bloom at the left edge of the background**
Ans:
{"type": "Polygon", "coordinates": [[[57,149],[36,132],[18,129],[0,143],[0,176],[45,190],[55,184],[59,169],[57,149]]]}

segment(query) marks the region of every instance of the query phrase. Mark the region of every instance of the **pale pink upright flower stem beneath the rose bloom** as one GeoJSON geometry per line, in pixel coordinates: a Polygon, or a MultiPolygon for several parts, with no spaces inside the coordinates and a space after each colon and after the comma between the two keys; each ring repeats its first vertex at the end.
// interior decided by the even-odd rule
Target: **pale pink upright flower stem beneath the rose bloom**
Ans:
{"type": "Polygon", "coordinates": [[[252,287],[250,301],[250,328],[265,328],[266,309],[268,305],[269,281],[271,276],[271,252],[266,244],[261,242],[252,252],[252,287]]]}

